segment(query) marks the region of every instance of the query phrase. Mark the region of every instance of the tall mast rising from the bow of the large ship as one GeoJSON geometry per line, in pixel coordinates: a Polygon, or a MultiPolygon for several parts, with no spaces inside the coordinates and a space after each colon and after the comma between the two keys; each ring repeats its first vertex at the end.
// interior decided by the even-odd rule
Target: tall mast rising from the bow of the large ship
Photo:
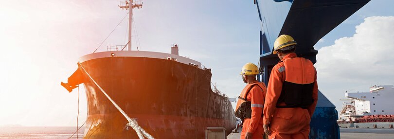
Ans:
{"type": "Polygon", "coordinates": [[[125,1],[121,1],[119,8],[122,9],[128,9],[129,13],[128,13],[128,46],[127,46],[127,50],[131,51],[131,36],[132,36],[132,31],[133,31],[133,9],[134,8],[142,8],[142,1],[141,0],[136,0],[133,3],[133,0],[125,0],[125,1]],[[131,7],[130,7],[131,5],[131,7]]]}

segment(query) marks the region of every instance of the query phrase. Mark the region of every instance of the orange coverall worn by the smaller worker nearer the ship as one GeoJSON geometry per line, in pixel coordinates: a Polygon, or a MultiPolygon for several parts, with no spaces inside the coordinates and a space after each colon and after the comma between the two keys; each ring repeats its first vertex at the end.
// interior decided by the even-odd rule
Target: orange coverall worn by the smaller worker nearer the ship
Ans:
{"type": "Polygon", "coordinates": [[[241,139],[245,139],[245,135],[247,132],[252,133],[252,139],[263,139],[264,129],[263,129],[263,118],[261,113],[263,112],[264,106],[264,97],[266,96],[267,87],[264,83],[259,83],[258,81],[253,82],[252,84],[247,85],[243,90],[240,96],[245,96],[246,91],[253,86],[246,99],[251,100],[251,118],[244,119],[244,123],[242,124],[242,132],[241,139]],[[259,85],[253,86],[253,85],[259,85]]]}

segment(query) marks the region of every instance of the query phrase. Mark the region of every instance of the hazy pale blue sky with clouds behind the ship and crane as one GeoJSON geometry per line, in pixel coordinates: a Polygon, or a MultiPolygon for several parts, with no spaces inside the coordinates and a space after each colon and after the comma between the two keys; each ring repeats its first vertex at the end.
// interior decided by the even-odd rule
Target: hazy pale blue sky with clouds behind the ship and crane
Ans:
{"type": "MultiPolygon", "coordinates": [[[[119,0],[120,1],[120,0],[119,0]]],[[[83,86],[60,86],[127,14],[118,0],[2,0],[0,5],[0,126],[75,126],[86,120],[83,86]],[[78,95],[79,94],[79,95],[78,95]]],[[[336,106],[344,90],[394,85],[393,0],[372,0],[315,45],[319,88],[336,106]]],[[[212,69],[212,82],[230,97],[246,84],[245,63],[259,59],[260,21],[253,0],[144,0],[134,10],[142,51],[170,52],[212,69]]],[[[98,49],[126,43],[123,20],[98,49]]],[[[138,37],[136,37],[138,35],[138,37]]]]}

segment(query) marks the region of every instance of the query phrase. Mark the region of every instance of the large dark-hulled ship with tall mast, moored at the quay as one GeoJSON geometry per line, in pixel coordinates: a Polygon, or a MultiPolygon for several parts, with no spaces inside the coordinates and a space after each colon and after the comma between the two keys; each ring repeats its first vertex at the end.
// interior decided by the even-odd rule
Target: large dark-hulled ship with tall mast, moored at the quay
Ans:
{"type": "Polygon", "coordinates": [[[211,88],[211,69],[179,56],[178,45],[172,53],[131,51],[132,9],[142,3],[130,0],[119,7],[129,10],[129,43],[82,56],[63,84],[69,91],[85,86],[85,138],[138,138],[125,128],[128,121],[99,87],[154,138],[203,139],[206,127],[225,127],[230,134],[235,128],[233,107],[225,94],[211,88]]]}

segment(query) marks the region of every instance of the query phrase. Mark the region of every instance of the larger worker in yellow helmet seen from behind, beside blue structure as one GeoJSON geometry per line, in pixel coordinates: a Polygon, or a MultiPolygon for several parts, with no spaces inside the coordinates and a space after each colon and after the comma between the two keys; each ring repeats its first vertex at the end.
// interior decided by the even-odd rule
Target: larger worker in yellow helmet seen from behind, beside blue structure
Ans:
{"type": "Polygon", "coordinates": [[[318,99],[313,63],[297,57],[293,37],[280,35],[272,54],[281,61],[270,74],[264,104],[264,132],[269,139],[308,139],[318,99]]]}

